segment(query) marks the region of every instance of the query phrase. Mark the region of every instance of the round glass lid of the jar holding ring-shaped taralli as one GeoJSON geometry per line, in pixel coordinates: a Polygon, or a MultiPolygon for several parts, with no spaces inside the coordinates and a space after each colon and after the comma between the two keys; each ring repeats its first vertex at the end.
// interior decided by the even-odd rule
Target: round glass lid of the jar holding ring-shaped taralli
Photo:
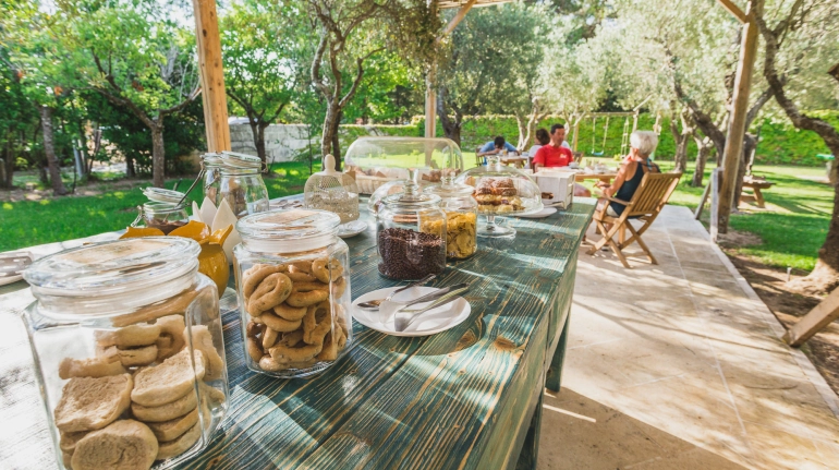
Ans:
{"type": "Polygon", "coordinates": [[[341,218],[328,210],[280,209],[242,217],[236,230],[250,251],[292,253],[332,243],[340,224],[341,218]]]}

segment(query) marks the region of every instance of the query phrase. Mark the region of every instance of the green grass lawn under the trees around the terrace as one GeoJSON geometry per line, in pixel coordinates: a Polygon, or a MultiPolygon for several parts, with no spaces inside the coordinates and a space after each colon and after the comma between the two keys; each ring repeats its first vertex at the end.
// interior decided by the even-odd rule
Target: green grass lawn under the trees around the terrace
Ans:
{"type": "MultiPolygon", "coordinates": [[[[475,165],[473,153],[464,153],[466,168],[475,165]]],[[[613,161],[608,161],[615,165],[613,161]]],[[[672,167],[669,161],[659,162],[662,170],[672,167]]],[[[315,171],[319,170],[319,164],[315,171]]],[[[691,188],[690,172],[682,178],[670,202],[691,207],[698,204],[702,188],[691,188]]],[[[819,177],[824,168],[756,166],[755,174],[765,176],[777,184],[764,191],[771,210],[754,210],[734,215],[731,227],[756,233],[763,243],[742,246],[739,253],[754,256],[759,262],[778,267],[810,270],[816,253],[827,234],[832,208],[832,189],[827,184],[799,177],[819,177]]],[[[308,167],[289,162],[273,166],[276,178],[266,178],[268,194],[278,197],[303,192],[308,178],[308,167]]],[[[705,181],[710,172],[708,168],[705,181]]],[[[147,183],[146,183],[147,184],[147,183]]],[[[109,184],[98,183],[87,189],[104,189],[102,193],[84,197],[59,197],[42,201],[0,203],[0,251],[14,250],[40,243],[87,237],[125,228],[136,216],[136,206],[145,198],[139,184],[125,190],[108,190],[109,184]]],[[[174,180],[167,183],[168,188],[174,180]]],[[[181,182],[181,189],[189,181],[181,182]]],[[[191,198],[203,200],[200,188],[191,198]]],[[[707,210],[706,210],[707,214],[707,210]]]]}

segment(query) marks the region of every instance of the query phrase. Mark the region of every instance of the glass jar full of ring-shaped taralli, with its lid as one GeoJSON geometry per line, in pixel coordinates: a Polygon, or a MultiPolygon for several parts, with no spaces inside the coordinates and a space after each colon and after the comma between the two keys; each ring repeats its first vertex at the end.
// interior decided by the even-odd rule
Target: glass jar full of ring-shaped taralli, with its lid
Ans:
{"type": "Polygon", "coordinates": [[[305,377],[352,344],[350,250],[341,218],[317,209],[272,210],[236,224],[236,291],[248,369],[305,377]]]}

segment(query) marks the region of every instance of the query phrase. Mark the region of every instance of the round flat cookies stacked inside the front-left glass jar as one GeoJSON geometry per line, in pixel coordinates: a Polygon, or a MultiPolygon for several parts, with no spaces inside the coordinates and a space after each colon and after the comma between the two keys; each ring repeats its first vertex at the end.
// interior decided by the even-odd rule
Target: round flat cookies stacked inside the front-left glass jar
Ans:
{"type": "Polygon", "coordinates": [[[226,400],[202,382],[224,376],[207,326],[169,315],[97,332],[96,339],[95,358],[66,358],[59,366],[69,379],[53,411],[64,467],[143,470],[189,450],[226,400]]]}

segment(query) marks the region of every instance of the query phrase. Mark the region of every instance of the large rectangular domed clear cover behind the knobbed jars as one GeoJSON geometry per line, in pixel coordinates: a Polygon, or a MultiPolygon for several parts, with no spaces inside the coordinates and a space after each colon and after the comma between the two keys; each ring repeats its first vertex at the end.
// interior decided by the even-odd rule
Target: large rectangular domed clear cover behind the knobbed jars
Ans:
{"type": "Polygon", "coordinates": [[[463,170],[460,147],[449,138],[361,137],[344,157],[346,171],[354,168],[421,168],[463,170]]]}

